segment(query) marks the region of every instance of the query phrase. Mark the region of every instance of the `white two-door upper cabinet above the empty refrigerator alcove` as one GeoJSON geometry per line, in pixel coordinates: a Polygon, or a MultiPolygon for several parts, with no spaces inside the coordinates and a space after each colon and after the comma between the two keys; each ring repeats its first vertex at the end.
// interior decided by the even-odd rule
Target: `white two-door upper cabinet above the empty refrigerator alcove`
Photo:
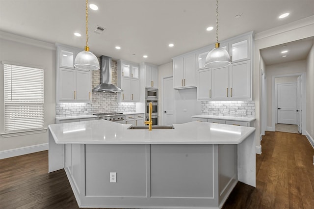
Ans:
{"type": "Polygon", "coordinates": [[[196,87],[196,53],[189,53],[172,58],[173,88],[196,87]]]}

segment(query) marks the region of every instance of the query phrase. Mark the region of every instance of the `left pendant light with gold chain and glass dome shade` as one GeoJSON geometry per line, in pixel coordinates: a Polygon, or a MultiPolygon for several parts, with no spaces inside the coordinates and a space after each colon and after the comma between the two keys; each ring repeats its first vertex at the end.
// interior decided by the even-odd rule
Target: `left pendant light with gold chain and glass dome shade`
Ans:
{"type": "Polygon", "coordinates": [[[74,67],[81,70],[99,70],[98,58],[88,47],[88,0],[86,0],[86,47],[75,57],[74,67]]]}

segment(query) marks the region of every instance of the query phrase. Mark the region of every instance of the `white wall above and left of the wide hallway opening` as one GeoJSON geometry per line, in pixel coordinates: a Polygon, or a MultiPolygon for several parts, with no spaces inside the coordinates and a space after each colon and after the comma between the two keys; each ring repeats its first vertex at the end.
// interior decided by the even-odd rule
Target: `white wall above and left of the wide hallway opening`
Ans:
{"type": "Polygon", "coordinates": [[[262,151],[260,134],[261,124],[260,118],[262,112],[260,111],[261,101],[261,72],[260,72],[260,50],[276,46],[279,44],[288,43],[313,36],[314,31],[314,16],[295,21],[283,26],[279,26],[270,30],[266,30],[255,34],[254,37],[254,65],[253,65],[253,100],[255,100],[256,121],[254,127],[256,128],[256,146],[262,151]]]}

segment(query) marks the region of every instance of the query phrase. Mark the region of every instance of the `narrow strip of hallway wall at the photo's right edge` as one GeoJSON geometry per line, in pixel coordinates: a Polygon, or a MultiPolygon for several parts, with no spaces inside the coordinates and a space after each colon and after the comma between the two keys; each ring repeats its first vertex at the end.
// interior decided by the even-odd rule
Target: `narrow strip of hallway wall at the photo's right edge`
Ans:
{"type": "Polygon", "coordinates": [[[306,131],[314,139],[314,46],[306,60],[306,131]]]}

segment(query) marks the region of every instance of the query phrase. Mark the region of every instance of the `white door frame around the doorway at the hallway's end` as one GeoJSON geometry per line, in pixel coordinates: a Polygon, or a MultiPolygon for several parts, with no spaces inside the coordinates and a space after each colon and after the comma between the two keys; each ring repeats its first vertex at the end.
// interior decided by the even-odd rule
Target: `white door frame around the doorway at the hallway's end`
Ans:
{"type": "Polygon", "coordinates": [[[305,134],[306,128],[306,73],[293,73],[293,74],[285,74],[285,75],[277,75],[272,76],[272,120],[271,120],[271,130],[268,131],[275,131],[275,124],[276,124],[276,104],[277,104],[277,97],[276,97],[276,90],[277,85],[275,85],[275,78],[281,77],[289,77],[289,76],[301,76],[301,87],[302,87],[302,98],[301,98],[301,108],[302,108],[302,135],[305,134]]]}

